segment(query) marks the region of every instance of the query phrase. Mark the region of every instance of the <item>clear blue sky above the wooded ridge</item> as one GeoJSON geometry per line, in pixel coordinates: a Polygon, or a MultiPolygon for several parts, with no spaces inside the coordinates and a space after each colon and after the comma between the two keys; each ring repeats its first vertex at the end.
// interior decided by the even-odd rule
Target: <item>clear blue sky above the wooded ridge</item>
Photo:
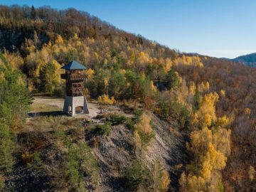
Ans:
{"type": "Polygon", "coordinates": [[[235,58],[256,52],[255,0],[0,0],[73,7],[181,52],[235,58]]]}

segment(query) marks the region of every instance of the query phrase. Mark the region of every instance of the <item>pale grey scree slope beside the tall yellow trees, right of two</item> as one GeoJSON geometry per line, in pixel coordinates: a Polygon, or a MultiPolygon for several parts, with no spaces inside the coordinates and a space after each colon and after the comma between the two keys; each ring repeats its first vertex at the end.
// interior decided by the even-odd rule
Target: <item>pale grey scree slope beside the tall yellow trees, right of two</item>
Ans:
{"type": "Polygon", "coordinates": [[[147,147],[146,161],[159,160],[171,178],[171,191],[178,191],[178,178],[188,163],[186,153],[186,132],[179,132],[171,125],[151,114],[152,124],[156,133],[155,138],[147,147]]]}

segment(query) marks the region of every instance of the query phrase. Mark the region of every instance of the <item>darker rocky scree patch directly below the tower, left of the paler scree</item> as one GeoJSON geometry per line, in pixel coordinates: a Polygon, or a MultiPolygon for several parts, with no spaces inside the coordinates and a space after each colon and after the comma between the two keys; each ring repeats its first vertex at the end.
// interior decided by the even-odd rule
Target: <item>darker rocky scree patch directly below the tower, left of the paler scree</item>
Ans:
{"type": "Polygon", "coordinates": [[[135,159],[132,132],[118,125],[112,127],[110,137],[102,139],[93,149],[100,167],[100,191],[125,191],[119,180],[119,171],[135,159]]]}

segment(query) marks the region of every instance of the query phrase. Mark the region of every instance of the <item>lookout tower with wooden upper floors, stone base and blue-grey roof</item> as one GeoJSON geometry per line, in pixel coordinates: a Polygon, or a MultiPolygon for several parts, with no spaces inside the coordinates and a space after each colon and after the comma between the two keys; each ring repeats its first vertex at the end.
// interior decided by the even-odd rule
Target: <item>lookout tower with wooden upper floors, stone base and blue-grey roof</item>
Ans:
{"type": "Polygon", "coordinates": [[[84,71],[87,69],[84,65],[71,61],[64,65],[65,70],[61,74],[61,78],[66,80],[66,96],[63,107],[63,112],[70,116],[78,113],[89,113],[87,100],[83,92],[83,82],[87,78],[84,71]]]}

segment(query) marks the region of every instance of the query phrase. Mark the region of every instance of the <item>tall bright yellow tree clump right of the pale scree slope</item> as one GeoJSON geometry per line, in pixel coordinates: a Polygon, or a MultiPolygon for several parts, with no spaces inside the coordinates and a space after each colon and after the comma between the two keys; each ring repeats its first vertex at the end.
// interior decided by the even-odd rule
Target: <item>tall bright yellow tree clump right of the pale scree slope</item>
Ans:
{"type": "Polygon", "coordinates": [[[181,191],[218,191],[221,182],[220,171],[225,168],[227,157],[230,155],[231,132],[230,129],[223,128],[229,124],[228,117],[220,117],[216,122],[214,102],[217,99],[218,95],[214,93],[205,95],[201,103],[203,110],[199,109],[196,114],[205,114],[204,127],[191,132],[191,143],[187,148],[193,154],[193,161],[188,165],[189,174],[181,174],[181,191]],[[208,129],[210,122],[215,124],[215,129],[208,129]]]}

